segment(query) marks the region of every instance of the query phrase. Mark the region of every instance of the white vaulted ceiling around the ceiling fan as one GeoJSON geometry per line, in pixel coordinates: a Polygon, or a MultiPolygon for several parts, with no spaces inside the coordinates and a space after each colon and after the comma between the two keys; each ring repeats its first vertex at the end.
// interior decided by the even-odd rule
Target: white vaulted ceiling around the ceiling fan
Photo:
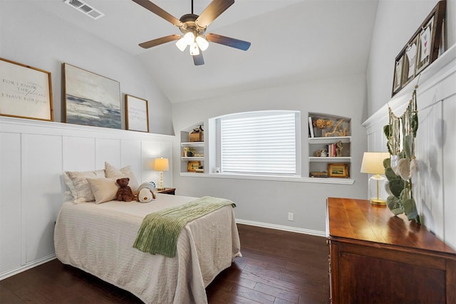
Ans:
{"type": "MultiPolygon", "coordinates": [[[[366,73],[377,0],[236,0],[207,33],[250,41],[248,51],[209,43],[204,65],[174,42],[144,49],[138,43],[177,27],[131,0],[83,0],[105,16],[81,14],[62,0],[33,0],[55,14],[136,56],[171,103],[272,85],[366,73]]],[[[177,19],[191,0],[152,0],[177,19]]],[[[201,14],[209,0],[194,0],[201,14]]]]}

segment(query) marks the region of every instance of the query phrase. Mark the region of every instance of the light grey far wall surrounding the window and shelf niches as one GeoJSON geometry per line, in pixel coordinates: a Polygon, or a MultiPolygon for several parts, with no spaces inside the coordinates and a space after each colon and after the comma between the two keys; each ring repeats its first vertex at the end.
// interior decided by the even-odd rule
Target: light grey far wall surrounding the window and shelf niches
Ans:
{"type": "MultiPolygon", "coordinates": [[[[326,198],[328,196],[367,198],[367,177],[361,174],[361,157],[366,150],[365,130],[365,75],[333,78],[309,83],[252,90],[236,95],[172,105],[175,134],[180,130],[211,117],[233,112],[254,110],[301,111],[302,172],[309,172],[307,144],[309,112],[323,112],[351,117],[352,170],[354,184],[315,184],[309,182],[259,181],[248,179],[222,179],[211,177],[180,176],[175,166],[177,194],[191,196],[222,196],[237,203],[236,218],[244,221],[288,226],[309,233],[324,234],[326,198]],[[294,212],[294,221],[287,220],[294,212]]],[[[180,138],[175,139],[175,160],[180,157],[180,138]]]]}

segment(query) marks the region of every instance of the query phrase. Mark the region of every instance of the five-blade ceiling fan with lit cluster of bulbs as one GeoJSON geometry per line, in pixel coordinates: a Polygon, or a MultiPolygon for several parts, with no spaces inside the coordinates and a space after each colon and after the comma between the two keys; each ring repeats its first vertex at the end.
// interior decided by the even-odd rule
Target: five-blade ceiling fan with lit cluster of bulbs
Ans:
{"type": "Polygon", "coordinates": [[[231,46],[232,48],[238,48],[242,51],[247,51],[250,47],[250,43],[248,41],[229,38],[217,35],[216,33],[204,34],[207,26],[209,26],[214,19],[220,16],[220,14],[226,11],[229,6],[232,6],[234,4],[234,0],[213,0],[199,16],[193,14],[192,0],[192,14],[185,14],[180,17],[180,19],[175,18],[149,0],[133,1],[145,9],[152,11],[152,13],[157,16],[162,17],[162,19],[174,24],[182,32],[182,35],[173,34],[140,43],[139,46],[142,48],[152,48],[152,46],[159,46],[160,44],[177,40],[176,46],[180,49],[180,51],[184,51],[187,46],[190,46],[190,55],[192,55],[195,65],[203,65],[204,58],[202,57],[202,51],[205,51],[209,46],[207,41],[219,43],[224,46],[231,46]]]}

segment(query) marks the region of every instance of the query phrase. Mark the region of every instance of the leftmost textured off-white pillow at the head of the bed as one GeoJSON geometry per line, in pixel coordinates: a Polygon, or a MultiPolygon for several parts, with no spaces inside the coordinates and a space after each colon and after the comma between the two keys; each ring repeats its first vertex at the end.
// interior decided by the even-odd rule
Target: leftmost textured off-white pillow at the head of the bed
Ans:
{"type": "Polygon", "coordinates": [[[68,186],[71,194],[73,195],[73,202],[75,204],[85,203],[87,201],[95,201],[95,196],[93,196],[87,178],[104,177],[105,170],[83,172],[66,171],[63,173],[63,179],[65,179],[65,184],[68,186]]]}

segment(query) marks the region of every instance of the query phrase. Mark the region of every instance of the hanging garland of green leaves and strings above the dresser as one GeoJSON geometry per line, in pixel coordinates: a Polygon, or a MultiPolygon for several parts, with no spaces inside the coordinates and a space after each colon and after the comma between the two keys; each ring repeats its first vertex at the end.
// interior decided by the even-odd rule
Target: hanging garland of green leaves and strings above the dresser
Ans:
{"type": "Polygon", "coordinates": [[[383,132],[388,140],[390,158],[385,159],[385,176],[388,179],[390,196],[386,201],[393,214],[407,215],[409,220],[420,224],[420,216],[413,198],[412,177],[416,170],[415,137],[418,131],[418,108],[415,85],[412,99],[408,103],[403,115],[400,117],[389,108],[390,121],[383,127],[383,132]]]}

